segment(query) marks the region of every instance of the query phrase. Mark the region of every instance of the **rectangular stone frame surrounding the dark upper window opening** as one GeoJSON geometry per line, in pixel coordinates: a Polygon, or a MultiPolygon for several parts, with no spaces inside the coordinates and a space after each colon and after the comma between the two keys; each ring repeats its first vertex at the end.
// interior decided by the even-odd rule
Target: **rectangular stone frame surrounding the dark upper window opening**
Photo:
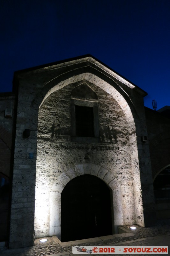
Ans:
{"type": "Polygon", "coordinates": [[[80,100],[71,99],[71,141],[75,142],[100,142],[99,133],[99,113],[97,100],[80,100]],[[94,137],[79,137],[76,136],[76,111],[75,106],[90,107],[93,108],[94,116],[94,137]]]}

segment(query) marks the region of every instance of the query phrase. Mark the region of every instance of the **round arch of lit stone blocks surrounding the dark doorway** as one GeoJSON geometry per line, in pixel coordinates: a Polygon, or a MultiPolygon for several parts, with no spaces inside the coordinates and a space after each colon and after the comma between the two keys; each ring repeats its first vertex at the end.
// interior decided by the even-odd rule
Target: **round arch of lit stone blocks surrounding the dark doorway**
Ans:
{"type": "MultiPolygon", "coordinates": [[[[117,227],[123,225],[123,208],[122,208],[122,189],[119,182],[114,175],[103,168],[99,164],[77,164],[72,168],[69,168],[65,172],[61,173],[53,185],[50,188],[50,210],[46,206],[46,200],[41,200],[41,207],[37,207],[35,210],[35,236],[54,236],[61,237],[61,193],[63,188],[68,182],[80,175],[90,174],[103,180],[107,186],[112,190],[113,202],[112,202],[112,225],[113,230],[117,233],[117,227]],[[43,211],[43,218],[46,220],[46,225],[42,225],[41,209],[47,209],[43,211]],[[49,220],[49,224],[48,221],[49,220]],[[41,224],[40,224],[41,222],[41,224]],[[40,227],[42,225],[42,227],[40,227]],[[49,225],[49,226],[48,226],[49,225]],[[46,231],[45,231],[46,230],[46,231]],[[45,234],[46,232],[46,234],[45,234]]],[[[43,196],[43,192],[39,195],[43,196]]],[[[40,200],[37,197],[37,200],[40,200]]]]}

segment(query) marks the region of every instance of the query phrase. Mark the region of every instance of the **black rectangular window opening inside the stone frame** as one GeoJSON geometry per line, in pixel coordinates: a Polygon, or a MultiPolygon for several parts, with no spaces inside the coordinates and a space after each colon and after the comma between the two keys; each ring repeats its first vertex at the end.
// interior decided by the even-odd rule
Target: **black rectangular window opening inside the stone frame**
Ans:
{"type": "Polygon", "coordinates": [[[93,108],[75,105],[76,136],[94,137],[93,108]]]}

